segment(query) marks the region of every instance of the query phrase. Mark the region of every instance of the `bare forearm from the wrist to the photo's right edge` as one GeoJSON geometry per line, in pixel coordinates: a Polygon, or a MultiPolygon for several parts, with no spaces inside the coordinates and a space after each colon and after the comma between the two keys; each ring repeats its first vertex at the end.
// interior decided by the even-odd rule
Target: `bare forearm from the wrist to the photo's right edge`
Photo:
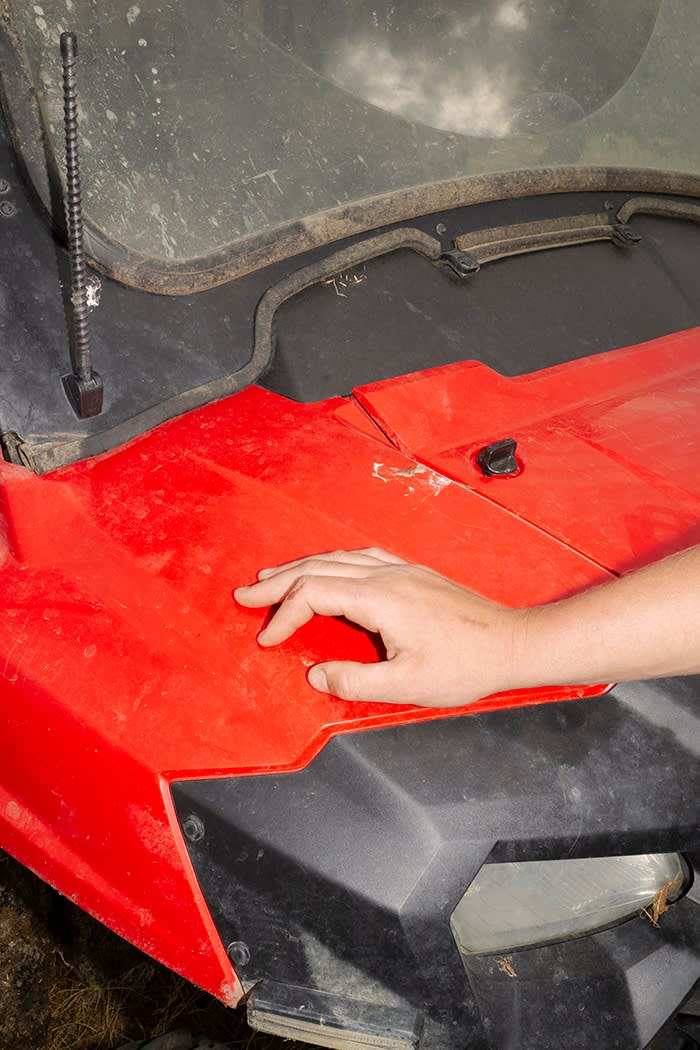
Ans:
{"type": "Polygon", "coordinates": [[[700,673],[700,547],[524,611],[516,686],[700,673]]]}

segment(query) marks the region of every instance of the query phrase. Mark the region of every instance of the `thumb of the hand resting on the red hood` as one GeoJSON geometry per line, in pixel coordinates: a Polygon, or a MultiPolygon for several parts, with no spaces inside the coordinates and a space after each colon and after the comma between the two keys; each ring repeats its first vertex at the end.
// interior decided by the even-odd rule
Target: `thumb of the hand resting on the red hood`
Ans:
{"type": "Polygon", "coordinates": [[[411,678],[401,657],[378,664],[331,660],[309,672],[309,682],[321,693],[341,700],[376,700],[380,704],[415,704],[409,695],[411,678]]]}

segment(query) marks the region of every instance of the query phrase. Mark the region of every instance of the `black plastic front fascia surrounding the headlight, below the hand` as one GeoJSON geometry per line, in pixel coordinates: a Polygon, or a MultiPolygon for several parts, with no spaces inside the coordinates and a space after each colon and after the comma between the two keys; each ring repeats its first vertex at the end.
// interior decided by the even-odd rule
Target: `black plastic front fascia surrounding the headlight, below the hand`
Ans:
{"type": "MultiPolygon", "coordinates": [[[[698,691],[335,737],[294,774],[181,781],[178,818],[238,972],[423,1015],[425,1048],[639,1048],[700,976],[697,884],[663,916],[473,956],[449,918],[487,861],[681,850],[700,862],[698,691]]],[[[266,985],[262,986],[263,988],[266,985]]]]}

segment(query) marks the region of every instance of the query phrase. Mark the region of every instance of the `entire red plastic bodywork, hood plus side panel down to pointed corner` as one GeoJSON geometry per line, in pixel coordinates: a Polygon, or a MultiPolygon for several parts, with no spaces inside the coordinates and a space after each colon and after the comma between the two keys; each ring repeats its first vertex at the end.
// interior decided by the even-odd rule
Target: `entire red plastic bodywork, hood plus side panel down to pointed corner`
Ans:
{"type": "MultiPolygon", "coordinates": [[[[304,676],[311,664],[374,658],[370,640],[316,620],[261,650],[263,615],[237,607],[231,588],[309,551],[378,544],[525,605],[606,579],[596,561],[618,570],[697,541],[697,481],[685,485],[697,411],[682,441],[654,444],[661,417],[675,416],[677,429],[684,406],[700,404],[697,373],[677,368],[693,348],[697,359],[698,332],[524,380],[464,365],[363,391],[365,410],[418,462],[352,400],[302,405],[250,388],[52,476],[0,465],[1,844],[134,944],[235,1002],[239,988],[190,870],[168,783],[299,769],[334,733],[445,712],[316,693],[304,676]],[[597,413],[596,398],[610,402],[615,368],[617,416],[597,413]],[[661,395],[646,395],[653,372],[663,412],[661,395]],[[654,435],[641,421],[644,404],[654,435]],[[578,458],[550,455],[538,503],[537,450],[548,447],[557,405],[575,407],[577,427],[588,413],[590,434],[563,424],[578,458]],[[623,453],[607,448],[625,412],[649,455],[670,464],[665,480],[630,466],[634,435],[623,453]],[[508,501],[496,482],[455,449],[511,429],[525,450],[522,476],[497,482],[512,494],[509,509],[499,505],[508,501]],[[537,440],[528,444],[526,432],[537,440]]],[[[558,440],[552,430],[557,448],[558,440]]],[[[596,691],[534,690],[476,707],[596,691]]]]}

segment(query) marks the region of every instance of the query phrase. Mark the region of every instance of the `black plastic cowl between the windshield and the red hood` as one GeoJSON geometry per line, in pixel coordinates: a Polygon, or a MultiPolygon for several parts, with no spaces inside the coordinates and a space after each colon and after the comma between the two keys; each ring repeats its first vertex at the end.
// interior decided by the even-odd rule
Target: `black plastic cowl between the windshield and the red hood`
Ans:
{"type": "MultiPolygon", "coordinates": [[[[6,455],[43,472],[115,447],[174,415],[254,380],[254,318],[279,281],[362,237],[317,249],[196,295],[165,296],[94,274],[94,366],[104,410],[77,421],[61,390],[68,366],[67,255],[22,181],[0,121],[0,430],[6,455]],[[17,437],[14,437],[14,436],[17,437]]],[[[449,250],[469,230],[617,212],[630,194],[551,194],[411,219],[449,250]]],[[[638,215],[641,243],[518,255],[460,279],[413,251],[369,260],[284,302],[263,385],[298,400],[347,394],[375,379],[475,358],[506,374],[629,345],[700,321],[698,226],[638,215]]],[[[399,227],[386,227],[388,233],[399,227]]]]}

